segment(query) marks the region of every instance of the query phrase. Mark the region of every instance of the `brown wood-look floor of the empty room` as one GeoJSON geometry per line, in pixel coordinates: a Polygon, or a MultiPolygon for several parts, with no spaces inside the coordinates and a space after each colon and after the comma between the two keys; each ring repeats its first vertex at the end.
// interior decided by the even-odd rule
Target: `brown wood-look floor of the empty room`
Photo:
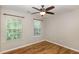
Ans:
{"type": "Polygon", "coordinates": [[[79,54],[79,52],[43,41],[31,46],[6,52],[4,54],[79,54]]]}

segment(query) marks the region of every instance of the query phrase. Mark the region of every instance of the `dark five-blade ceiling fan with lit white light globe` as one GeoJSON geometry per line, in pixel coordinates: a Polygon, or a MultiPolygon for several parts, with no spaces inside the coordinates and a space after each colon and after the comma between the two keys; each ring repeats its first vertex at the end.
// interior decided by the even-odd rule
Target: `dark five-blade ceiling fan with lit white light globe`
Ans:
{"type": "Polygon", "coordinates": [[[39,11],[39,12],[34,12],[34,13],[32,13],[32,14],[40,13],[41,16],[44,16],[45,14],[51,14],[51,15],[54,15],[54,14],[55,14],[55,13],[53,13],[53,12],[49,12],[49,10],[55,8],[54,6],[50,6],[50,7],[48,7],[48,8],[44,8],[44,5],[41,5],[41,9],[36,8],[36,7],[32,7],[32,8],[39,11]]]}

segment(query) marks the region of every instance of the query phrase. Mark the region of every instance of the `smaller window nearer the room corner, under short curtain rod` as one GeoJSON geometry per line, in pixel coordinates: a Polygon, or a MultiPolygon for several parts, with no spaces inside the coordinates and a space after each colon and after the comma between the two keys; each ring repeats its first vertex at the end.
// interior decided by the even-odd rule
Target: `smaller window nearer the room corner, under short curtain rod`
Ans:
{"type": "Polygon", "coordinates": [[[34,20],[34,35],[39,36],[41,34],[41,21],[34,20]]]}

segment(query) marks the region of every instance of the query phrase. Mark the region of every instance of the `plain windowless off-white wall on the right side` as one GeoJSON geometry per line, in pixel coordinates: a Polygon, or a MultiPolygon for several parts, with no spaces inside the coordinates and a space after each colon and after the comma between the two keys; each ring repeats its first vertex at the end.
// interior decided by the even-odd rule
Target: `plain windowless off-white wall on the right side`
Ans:
{"type": "Polygon", "coordinates": [[[50,17],[45,22],[45,38],[79,50],[79,10],[50,17]]]}

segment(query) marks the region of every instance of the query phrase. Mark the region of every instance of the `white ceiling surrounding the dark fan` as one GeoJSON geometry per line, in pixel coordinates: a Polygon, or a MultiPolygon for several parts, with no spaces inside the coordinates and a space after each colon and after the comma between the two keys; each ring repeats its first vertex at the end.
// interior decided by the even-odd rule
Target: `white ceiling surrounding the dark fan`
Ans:
{"type": "MultiPolygon", "coordinates": [[[[49,6],[50,5],[45,5],[45,8],[49,6]]],[[[55,8],[50,11],[55,12],[57,15],[79,9],[79,5],[54,5],[54,6],[55,8]]],[[[4,5],[3,6],[3,8],[9,8],[20,12],[28,12],[28,13],[37,12],[37,10],[33,9],[32,7],[41,8],[40,5],[4,5]]],[[[34,16],[40,17],[39,14],[35,14],[34,16]]],[[[53,15],[46,15],[44,17],[48,17],[48,16],[53,16],[53,15]]]]}

